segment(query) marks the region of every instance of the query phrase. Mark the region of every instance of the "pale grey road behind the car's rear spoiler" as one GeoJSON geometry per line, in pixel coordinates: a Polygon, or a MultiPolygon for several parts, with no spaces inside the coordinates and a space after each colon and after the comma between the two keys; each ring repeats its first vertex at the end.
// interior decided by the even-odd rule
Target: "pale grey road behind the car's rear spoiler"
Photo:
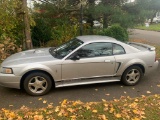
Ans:
{"type": "Polygon", "coordinates": [[[131,39],[143,39],[150,43],[155,43],[157,45],[160,45],[160,32],[154,32],[154,31],[145,31],[145,30],[138,30],[138,29],[132,29],[130,38],[131,39]]]}

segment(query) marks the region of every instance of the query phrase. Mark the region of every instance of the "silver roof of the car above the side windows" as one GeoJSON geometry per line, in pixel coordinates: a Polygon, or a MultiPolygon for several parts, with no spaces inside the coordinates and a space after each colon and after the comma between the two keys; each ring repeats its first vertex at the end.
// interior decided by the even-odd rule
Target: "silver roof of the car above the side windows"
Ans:
{"type": "Polygon", "coordinates": [[[108,36],[101,36],[101,35],[84,35],[84,36],[78,36],[77,39],[83,41],[84,43],[86,42],[113,42],[117,41],[116,39],[108,36]]]}

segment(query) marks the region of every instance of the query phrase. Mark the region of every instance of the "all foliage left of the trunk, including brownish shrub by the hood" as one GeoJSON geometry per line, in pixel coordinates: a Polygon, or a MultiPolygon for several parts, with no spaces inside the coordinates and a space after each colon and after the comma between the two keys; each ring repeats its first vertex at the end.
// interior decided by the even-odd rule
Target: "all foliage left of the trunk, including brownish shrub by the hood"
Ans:
{"type": "Polygon", "coordinates": [[[23,19],[19,14],[20,6],[18,0],[0,0],[0,60],[21,50],[23,19]]]}

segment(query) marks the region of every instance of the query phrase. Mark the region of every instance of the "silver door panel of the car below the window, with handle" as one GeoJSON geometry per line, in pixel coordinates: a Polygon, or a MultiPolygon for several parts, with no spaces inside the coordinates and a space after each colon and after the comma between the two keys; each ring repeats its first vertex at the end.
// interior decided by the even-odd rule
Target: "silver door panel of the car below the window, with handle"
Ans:
{"type": "Polygon", "coordinates": [[[62,64],[62,79],[92,78],[113,76],[115,74],[114,56],[65,60],[62,64]]]}

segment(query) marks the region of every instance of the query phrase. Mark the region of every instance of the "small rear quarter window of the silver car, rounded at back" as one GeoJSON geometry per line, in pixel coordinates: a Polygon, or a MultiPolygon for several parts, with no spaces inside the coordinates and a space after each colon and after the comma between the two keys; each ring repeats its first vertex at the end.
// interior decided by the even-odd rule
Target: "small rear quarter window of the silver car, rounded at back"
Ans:
{"type": "Polygon", "coordinates": [[[113,55],[121,55],[121,54],[125,54],[125,50],[122,46],[118,45],[118,44],[113,44],[113,55]]]}

